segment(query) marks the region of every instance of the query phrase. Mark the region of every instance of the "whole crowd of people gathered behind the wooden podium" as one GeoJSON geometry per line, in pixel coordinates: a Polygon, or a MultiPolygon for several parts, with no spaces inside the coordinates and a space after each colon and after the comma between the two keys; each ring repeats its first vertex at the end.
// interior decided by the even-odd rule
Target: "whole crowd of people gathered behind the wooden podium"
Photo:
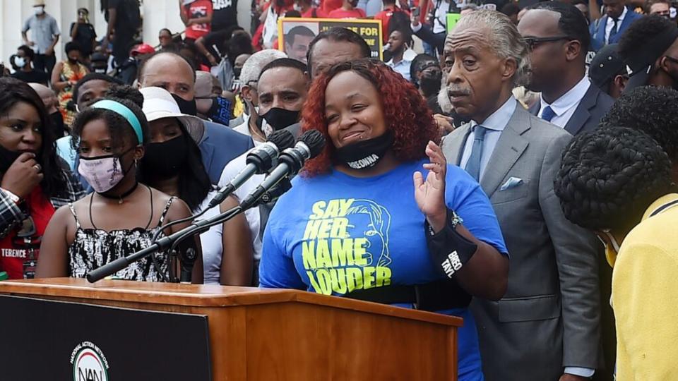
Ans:
{"type": "Polygon", "coordinates": [[[114,279],[176,282],[190,251],[194,283],[463,317],[459,380],[672,380],[678,24],[639,1],[255,1],[245,30],[182,0],[144,43],[138,2],[102,0],[106,35],[78,9],[59,62],[36,1],[0,78],[0,279],[233,210],[266,174],[212,200],[253,150],[317,130],[277,200],[114,279]],[[380,20],[383,59],[348,28],[271,49],[299,16],[380,20]]]}

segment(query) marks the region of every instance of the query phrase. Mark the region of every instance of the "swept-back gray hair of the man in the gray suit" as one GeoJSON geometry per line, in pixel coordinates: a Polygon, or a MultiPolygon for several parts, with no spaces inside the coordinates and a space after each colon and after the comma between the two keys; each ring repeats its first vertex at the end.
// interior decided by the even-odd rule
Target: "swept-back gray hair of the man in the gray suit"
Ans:
{"type": "MultiPolygon", "coordinates": [[[[489,47],[494,50],[501,59],[513,59],[516,61],[516,74],[513,75],[513,85],[520,85],[526,79],[530,70],[530,56],[528,45],[518,32],[516,25],[503,13],[478,9],[460,18],[454,30],[462,28],[487,28],[489,30],[489,47]]],[[[453,30],[453,31],[454,31],[453,30]]]]}

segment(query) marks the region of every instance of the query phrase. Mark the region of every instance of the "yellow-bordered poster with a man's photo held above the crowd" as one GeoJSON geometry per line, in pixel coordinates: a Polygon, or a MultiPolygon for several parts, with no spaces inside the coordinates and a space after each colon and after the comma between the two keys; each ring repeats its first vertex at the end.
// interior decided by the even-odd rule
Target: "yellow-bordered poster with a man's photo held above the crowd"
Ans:
{"type": "Polygon", "coordinates": [[[367,42],[371,58],[382,59],[381,23],[379,20],[352,20],[332,18],[279,18],[278,50],[291,59],[307,63],[309,44],[321,32],[332,28],[346,28],[356,32],[367,42]]]}

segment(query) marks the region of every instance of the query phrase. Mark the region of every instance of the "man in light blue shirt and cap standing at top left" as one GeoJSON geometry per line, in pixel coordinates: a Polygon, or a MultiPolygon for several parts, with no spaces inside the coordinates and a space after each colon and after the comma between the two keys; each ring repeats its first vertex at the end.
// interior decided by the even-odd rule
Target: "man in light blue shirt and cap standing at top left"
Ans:
{"type": "Polygon", "coordinates": [[[44,11],[44,1],[36,0],[33,3],[34,15],[23,23],[21,37],[23,43],[35,49],[35,70],[52,73],[57,58],[54,56],[54,47],[59,42],[59,26],[57,20],[44,11]],[[27,32],[30,30],[30,40],[27,32]]]}

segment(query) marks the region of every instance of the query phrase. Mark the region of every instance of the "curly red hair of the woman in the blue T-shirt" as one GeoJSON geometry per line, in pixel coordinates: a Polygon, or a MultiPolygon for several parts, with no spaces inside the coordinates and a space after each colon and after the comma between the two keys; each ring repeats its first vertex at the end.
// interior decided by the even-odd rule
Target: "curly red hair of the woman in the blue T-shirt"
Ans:
{"type": "Polygon", "coordinates": [[[381,104],[384,119],[387,128],[393,131],[395,139],[392,150],[398,160],[408,162],[423,159],[429,140],[439,143],[440,133],[431,110],[414,85],[402,75],[385,64],[370,59],[338,63],[314,80],[302,109],[303,131],[316,128],[328,142],[318,157],[306,163],[306,176],[323,174],[331,169],[334,147],[325,118],[325,90],[330,80],[344,71],[353,71],[365,78],[383,95],[381,104]]]}

